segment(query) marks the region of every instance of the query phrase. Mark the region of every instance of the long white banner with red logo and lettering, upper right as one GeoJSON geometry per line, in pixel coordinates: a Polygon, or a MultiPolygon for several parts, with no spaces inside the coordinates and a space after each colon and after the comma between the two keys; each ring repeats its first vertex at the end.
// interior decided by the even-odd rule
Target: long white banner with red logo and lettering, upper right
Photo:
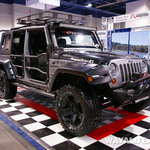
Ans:
{"type": "Polygon", "coordinates": [[[138,19],[148,19],[150,18],[150,11],[126,14],[126,15],[116,16],[113,18],[114,18],[114,23],[133,21],[133,20],[138,20],[138,19]]]}

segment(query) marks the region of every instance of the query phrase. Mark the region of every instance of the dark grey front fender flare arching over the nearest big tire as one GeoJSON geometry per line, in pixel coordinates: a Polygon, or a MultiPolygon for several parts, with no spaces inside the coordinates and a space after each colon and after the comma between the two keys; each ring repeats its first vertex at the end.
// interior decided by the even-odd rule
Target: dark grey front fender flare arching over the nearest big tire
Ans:
{"type": "Polygon", "coordinates": [[[56,86],[54,84],[57,83],[56,80],[58,79],[58,76],[63,74],[70,74],[84,78],[89,85],[105,84],[112,81],[110,76],[102,76],[103,74],[108,73],[108,71],[105,70],[104,67],[100,66],[96,67],[96,69],[93,69],[94,66],[97,65],[93,64],[83,65],[82,63],[78,63],[78,65],[72,65],[68,63],[65,64],[64,66],[61,66],[54,73],[54,76],[51,80],[50,91],[53,91],[53,87],[56,86]],[[88,81],[89,76],[93,77],[93,82],[88,81]]]}

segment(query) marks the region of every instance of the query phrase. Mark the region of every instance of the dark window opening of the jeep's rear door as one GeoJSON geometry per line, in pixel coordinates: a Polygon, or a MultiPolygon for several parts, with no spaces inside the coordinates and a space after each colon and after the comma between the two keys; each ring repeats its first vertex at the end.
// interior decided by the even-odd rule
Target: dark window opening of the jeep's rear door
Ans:
{"type": "Polygon", "coordinates": [[[22,55],[24,50],[25,31],[14,32],[12,40],[12,54],[22,55]]]}

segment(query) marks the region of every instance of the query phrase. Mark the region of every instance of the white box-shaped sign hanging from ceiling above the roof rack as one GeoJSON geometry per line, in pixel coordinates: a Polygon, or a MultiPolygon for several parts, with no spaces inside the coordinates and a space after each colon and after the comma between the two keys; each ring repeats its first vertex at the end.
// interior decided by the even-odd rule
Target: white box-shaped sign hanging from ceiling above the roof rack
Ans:
{"type": "Polygon", "coordinates": [[[47,10],[60,6],[60,0],[26,0],[26,6],[47,10]]]}

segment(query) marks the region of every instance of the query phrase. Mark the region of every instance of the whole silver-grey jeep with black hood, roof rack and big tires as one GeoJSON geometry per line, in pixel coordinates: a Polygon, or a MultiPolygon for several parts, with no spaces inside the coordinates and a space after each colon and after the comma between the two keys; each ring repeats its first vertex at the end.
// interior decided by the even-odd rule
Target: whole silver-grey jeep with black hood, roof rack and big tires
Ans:
{"type": "Polygon", "coordinates": [[[14,98],[17,86],[55,98],[61,125],[76,136],[100,126],[103,108],[138,112],[149,105],[144,59],[103,51],[95,28],[75,25],[70,15],[65,24],[30,17],[2,34],[0,98],[14,98]]]}

